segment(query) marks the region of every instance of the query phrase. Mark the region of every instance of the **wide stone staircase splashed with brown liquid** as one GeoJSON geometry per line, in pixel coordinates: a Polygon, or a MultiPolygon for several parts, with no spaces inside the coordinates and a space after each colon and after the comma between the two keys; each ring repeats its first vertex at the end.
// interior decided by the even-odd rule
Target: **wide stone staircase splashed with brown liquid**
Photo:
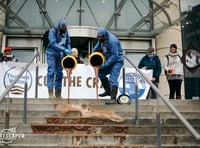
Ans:
{"type": "MultiPolygon", "coordinates": [[[[135,120],[135,100],[130,105],[105,105],[105,101],[99,100],[97,105],[96,100],[74,99],[70,104],[90,104],[92,110],[114,111],[124,118],[123,122],[105,117],[83,117],[80,112],[60,114],[55,104],[65,104],[66,100],[28,99],[27,123],[24,124],[23,99],[12,99],[10,128],[16,127],[15,135],[21,137],[5,146],[0,136],[0,147],[154,148],[157,147],[156,115],[159,113],[163,148],[200,148],[200,141],[160,100],[159,107],[157,100],[139,100],[139,124],[135,120]]],[[[200,133],[200,101],[170,101],[200,133]]],[[[5,129],[5,108],[5,102],[0,104],[1,135],[5,129]]]]}

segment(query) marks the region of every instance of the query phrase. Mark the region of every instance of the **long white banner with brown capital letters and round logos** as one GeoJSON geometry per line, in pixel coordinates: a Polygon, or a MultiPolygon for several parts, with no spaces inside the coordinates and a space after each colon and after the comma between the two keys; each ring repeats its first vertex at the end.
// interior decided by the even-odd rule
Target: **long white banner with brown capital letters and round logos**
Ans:
{"type": "MultiPolygon", "coordinates": [[[[7,62],[0,63],[0,93],[2,94],[6,88],[17,77],[20,71],[25,67],[26,63],[7,62]]],[[[152,70],[142,70],[149,78],[152,77],[152,70]]],[[[31,64],[28,70],[17,81],[15,86],[9,92],[11,98],[23,98],[25,82],[27,82],[28,98],[35,98],[36,79],[38,79],[38,98],[48,98],[47,89],[47,65],[46,64],[31,64]],[[39,74],[36,78],[36,66],[39,67],[39,74]]],[[[63,70],[62,98],[68,97],[68,79],[67,73],[63,70]]],[[[149,91],[149,85],[143,77],[136,73],[134,68],[125,68],[125,88],[123,89],[122,71],[119,76],[118,95],[128,94],[131,99],[135,99],[135,84],[138,84],[139,99],[146,99],[149,91]]],[[[98,93],[104,92],[99,81],[98,93]]],[[[71,99],[96,99],[95,74],[94,69],[90,65],[77,64],[76,68],[71,73],[71,99]]],[[[99,97],[100,99],[108,99],[109,97],[99,97]]]]}

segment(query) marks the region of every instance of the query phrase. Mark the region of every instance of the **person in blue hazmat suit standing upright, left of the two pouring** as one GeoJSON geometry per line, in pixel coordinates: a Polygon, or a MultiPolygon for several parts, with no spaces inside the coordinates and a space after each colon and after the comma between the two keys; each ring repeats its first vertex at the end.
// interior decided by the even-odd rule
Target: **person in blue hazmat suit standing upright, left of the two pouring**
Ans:
{"type": "Polygon", "coordinates": [[[61,98],[63,78],[61,61],[65,55],[71,55],[71,40],[64,19],[58,22],[57,27],[50,29],[48,39],[49,44],[46,54],[49,98],[61,98]]]}

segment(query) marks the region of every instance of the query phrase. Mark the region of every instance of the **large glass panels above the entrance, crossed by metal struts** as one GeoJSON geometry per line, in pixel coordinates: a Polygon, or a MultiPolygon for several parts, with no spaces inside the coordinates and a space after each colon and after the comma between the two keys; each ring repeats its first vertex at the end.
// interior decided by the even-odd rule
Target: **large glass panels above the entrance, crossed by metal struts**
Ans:
{"type": "MultiPolygon", "coordinates": [[[[31,30],[56,26],[65,18],[69,26],[127,31],[152,10],[149,0],[20,0],[7,6],[6,26],[31,30]]],[[[137,31],[150,31],[150,23],[139,24],[137,31]]]]}

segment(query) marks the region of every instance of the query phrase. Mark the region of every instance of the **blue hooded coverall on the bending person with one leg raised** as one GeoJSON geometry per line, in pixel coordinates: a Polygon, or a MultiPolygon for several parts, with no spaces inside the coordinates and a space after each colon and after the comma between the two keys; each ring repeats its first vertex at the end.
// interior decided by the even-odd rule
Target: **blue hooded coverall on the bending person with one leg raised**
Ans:
{"type": "Polygon", "coordinates": [[[110,74],[110,85],[118,87],[118,77],[120,70],[124,64],[123,49],[118,38],[105,30],[100,28],[97,34],[102,34],[106,41],[104,43],[98,41],[92,52],[98,49],[103,49],[105,55],[105,63],[99,69],[99,78],[103,80],[108,74],[110,74]]]}

